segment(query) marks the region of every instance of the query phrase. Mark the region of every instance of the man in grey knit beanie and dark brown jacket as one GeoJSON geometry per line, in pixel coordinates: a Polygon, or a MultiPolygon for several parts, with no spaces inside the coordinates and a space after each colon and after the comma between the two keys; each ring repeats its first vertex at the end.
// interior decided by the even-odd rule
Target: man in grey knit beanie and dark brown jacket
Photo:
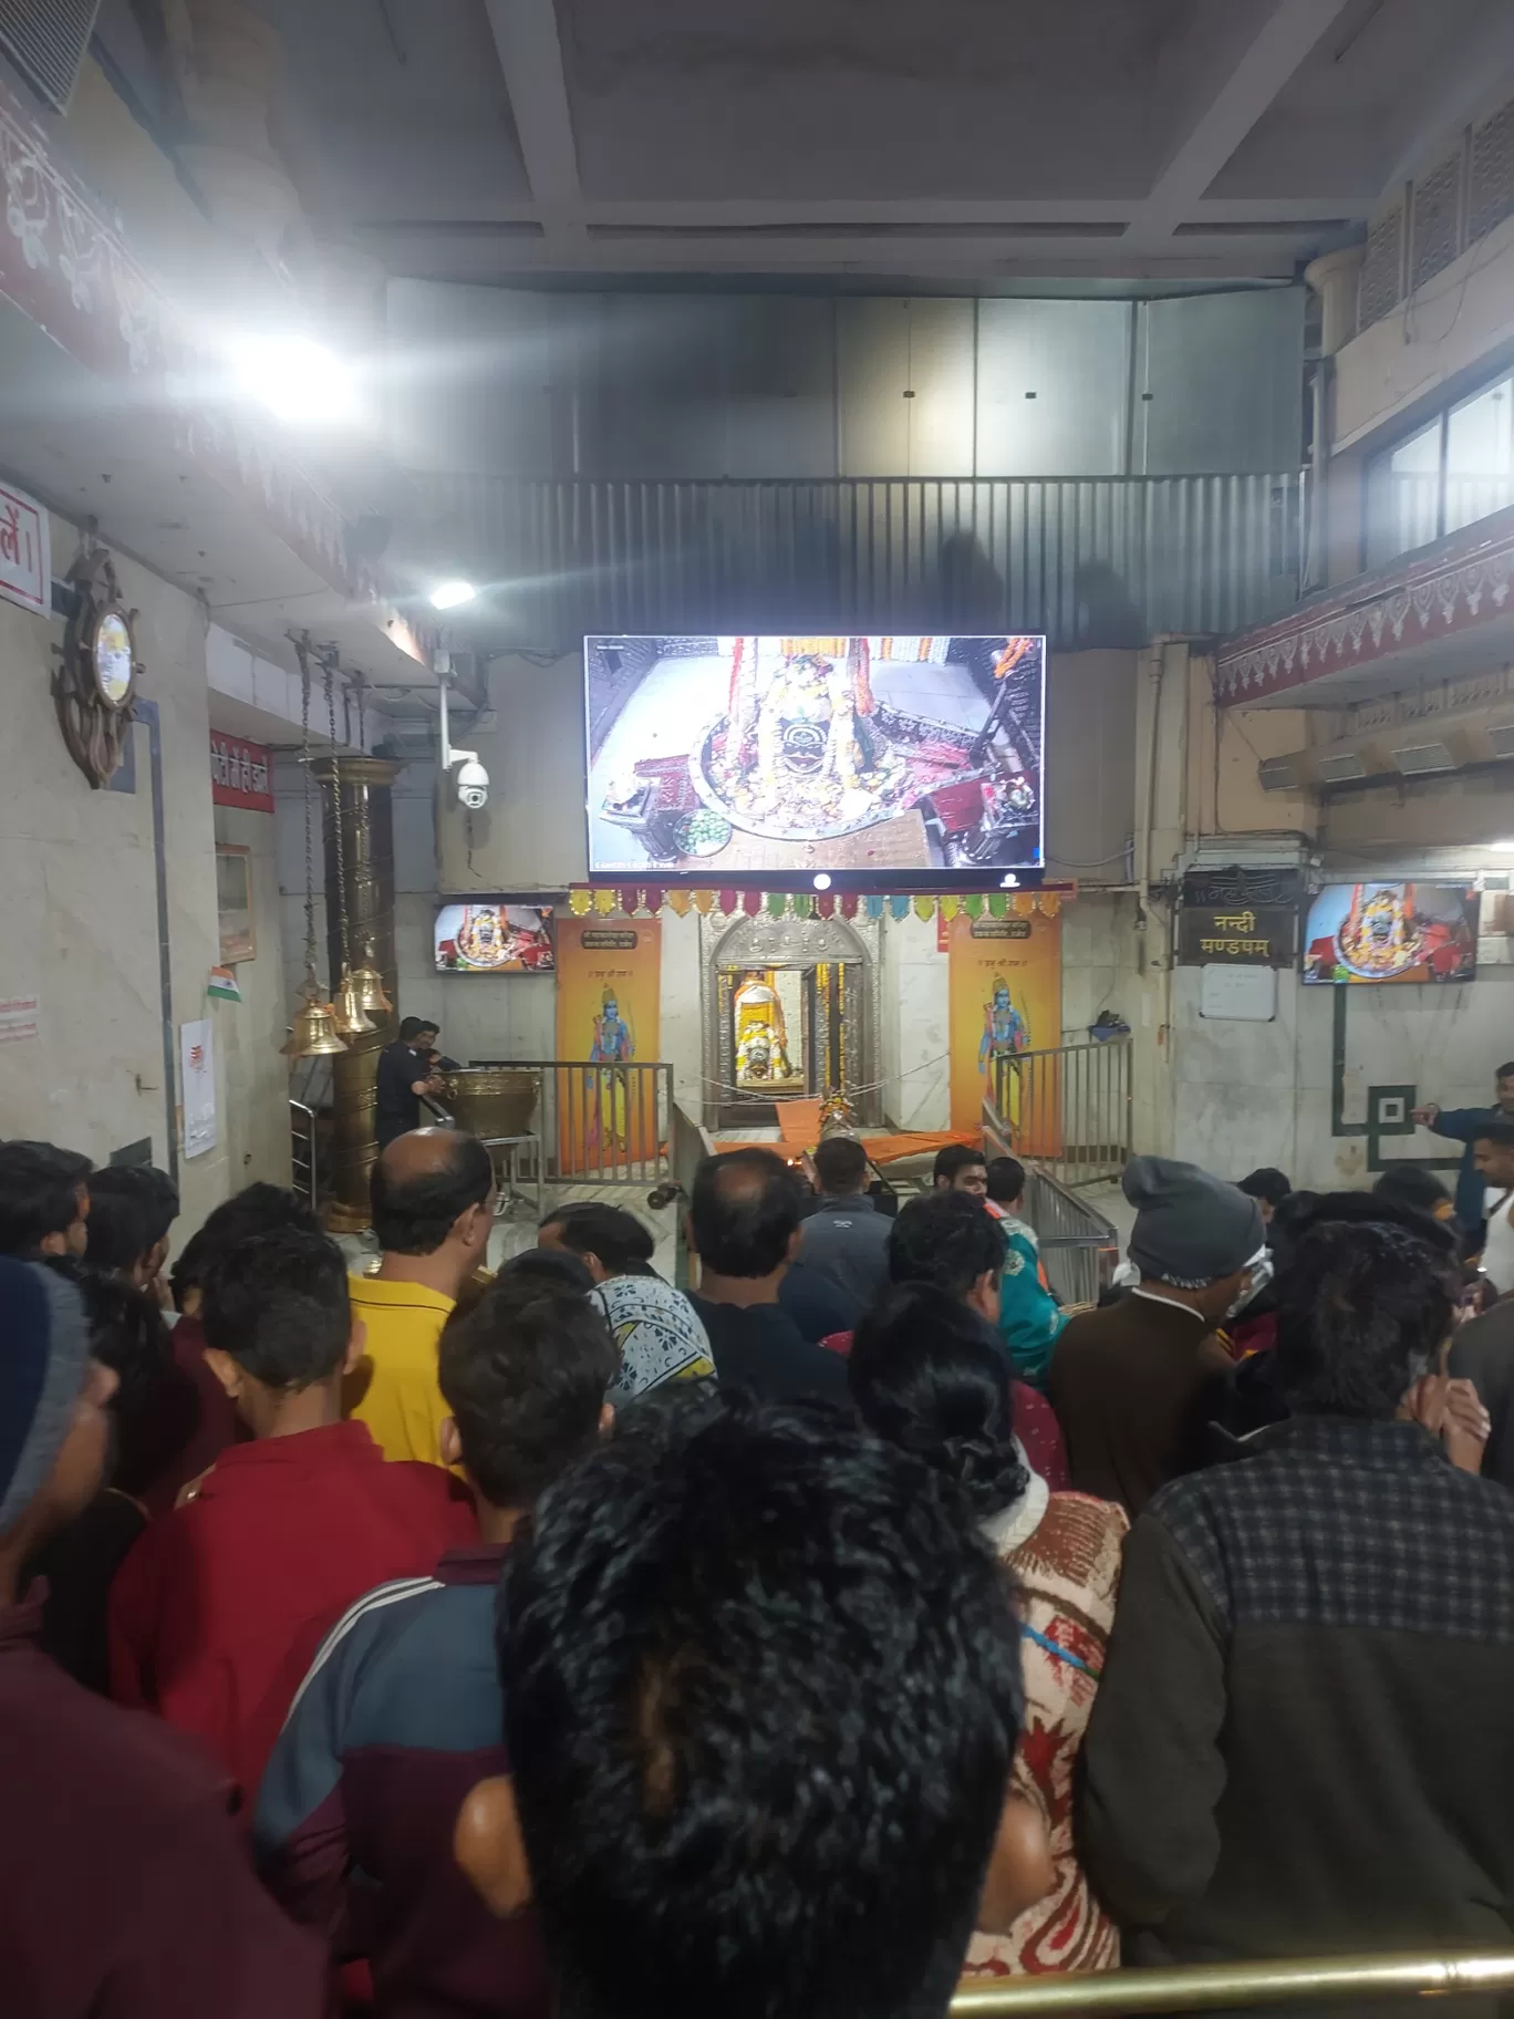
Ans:
{"type": "Polygon", "coordinates": [[[1203,1431],[1229,1353],[1217,1326],[1264,1274],[1262,1209],[1193,1163],[1132,1157],[1128,1296],[1070,1318],[1048,1373],[1068,1440],[1072,1490],[1118,1500],[1134,1518],[1169,1480],[1203,1462],[1203,1431]]]}

